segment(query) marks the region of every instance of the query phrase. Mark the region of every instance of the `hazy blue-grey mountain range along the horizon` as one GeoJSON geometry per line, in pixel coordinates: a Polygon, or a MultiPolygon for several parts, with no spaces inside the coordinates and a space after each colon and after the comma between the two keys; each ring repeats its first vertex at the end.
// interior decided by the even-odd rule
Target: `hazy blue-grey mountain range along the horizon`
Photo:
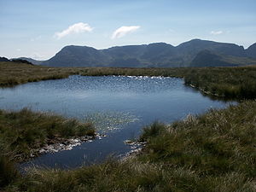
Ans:
{"type": "Polygon", "coordinates": [[[193,39],[178,46],[154,43],[95,49],[69,45],[47,61],[30,61],[49,67],[231,67],[256,64],[256,44],[244,49],[193,39]]]}

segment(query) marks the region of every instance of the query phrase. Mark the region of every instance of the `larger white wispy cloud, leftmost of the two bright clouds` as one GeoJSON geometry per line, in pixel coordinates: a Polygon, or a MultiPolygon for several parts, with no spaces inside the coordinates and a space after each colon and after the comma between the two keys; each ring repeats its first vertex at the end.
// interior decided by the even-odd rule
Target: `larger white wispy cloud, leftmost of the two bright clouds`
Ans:
{"type": "Polygon", "coordinates": [[[72,33],[91,32],[92,29],[93,28],[87,23],[75,23],[72,26],[68,26],[68,28],[63,30],[62,32],[55,32],[55,37],[57,39],[60,39],[72,33]]]}

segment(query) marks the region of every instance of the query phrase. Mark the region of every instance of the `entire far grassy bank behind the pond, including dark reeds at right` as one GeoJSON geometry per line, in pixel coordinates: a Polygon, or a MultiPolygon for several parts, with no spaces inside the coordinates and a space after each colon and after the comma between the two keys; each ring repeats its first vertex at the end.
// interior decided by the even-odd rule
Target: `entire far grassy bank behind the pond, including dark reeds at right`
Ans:
{"type": "Polygon", "coordinates": [[[256,67],[40,67],[24,63],[0,62],[0,86],[13,86],[46,79],[63,79],[69,75],[132,75],[183,78],[205,94],[227,99],[256,97],[256,67]]]}

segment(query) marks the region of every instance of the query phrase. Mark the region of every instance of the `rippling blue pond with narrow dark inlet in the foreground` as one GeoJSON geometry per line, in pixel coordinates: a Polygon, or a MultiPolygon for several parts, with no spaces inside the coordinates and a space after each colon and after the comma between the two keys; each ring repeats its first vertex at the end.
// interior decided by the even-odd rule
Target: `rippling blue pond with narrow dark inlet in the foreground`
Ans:
{"type": "Polygon", "coordinates": [[[83,77],[46,80],[0,89],[0,108],[31,108],[50,111],[81,121],[90,119],[102,140],[82,143],[72,150],[43,154],[21,166],[72,168],[97,163],[109,155],[131,150],[126,139],[139,136],[143,126],[160,120],[172,123],[189,113],[203,113],[209,108],[224,108],[228,102],[213,101],[183,79],[162,77],[83,77]]]}

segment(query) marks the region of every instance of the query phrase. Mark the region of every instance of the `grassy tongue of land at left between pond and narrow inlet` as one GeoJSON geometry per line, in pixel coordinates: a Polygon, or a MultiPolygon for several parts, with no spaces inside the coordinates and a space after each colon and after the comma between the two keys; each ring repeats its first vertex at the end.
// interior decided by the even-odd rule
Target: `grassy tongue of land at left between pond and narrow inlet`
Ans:
{"type": "Polygon", "coordinates": [[[94,135],[94,126],[65,119],[50,113],[35,113],[28,108],[18,112],[0,110],[0,139],[9,151],[15,151],[18,159],[30,157],[33,149],[49,141],[73,136],[94,135]]]}

